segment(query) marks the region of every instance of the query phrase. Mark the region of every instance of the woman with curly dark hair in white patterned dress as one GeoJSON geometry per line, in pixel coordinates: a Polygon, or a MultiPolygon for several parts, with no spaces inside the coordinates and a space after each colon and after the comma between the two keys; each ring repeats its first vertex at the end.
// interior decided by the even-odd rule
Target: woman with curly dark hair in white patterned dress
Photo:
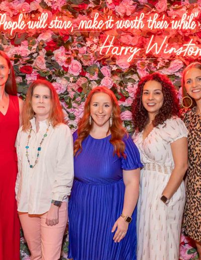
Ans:
{"type": "Polygon", "coordinates": [[[172,83],[159,73],[144,77],[133,102],[134,142],[144,168],[138,201],[138,260],[178,260],[185,203],[187,129],[172,83]]]}

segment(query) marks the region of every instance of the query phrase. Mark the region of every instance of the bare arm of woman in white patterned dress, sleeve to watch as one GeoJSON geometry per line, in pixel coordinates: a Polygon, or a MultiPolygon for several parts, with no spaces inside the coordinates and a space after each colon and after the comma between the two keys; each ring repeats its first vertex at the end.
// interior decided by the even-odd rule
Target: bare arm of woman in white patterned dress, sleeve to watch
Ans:
{"type": "Polygon", "coordinates": [[[177,139],[171,143],[172,156],[174,160],[174,169],[171,173],[169,181],[164,188],[162,195],[167,199],[171,199],[173,194],[180,186],[184,174],[188,168],[188,142],[186,137],[177,139]]]}

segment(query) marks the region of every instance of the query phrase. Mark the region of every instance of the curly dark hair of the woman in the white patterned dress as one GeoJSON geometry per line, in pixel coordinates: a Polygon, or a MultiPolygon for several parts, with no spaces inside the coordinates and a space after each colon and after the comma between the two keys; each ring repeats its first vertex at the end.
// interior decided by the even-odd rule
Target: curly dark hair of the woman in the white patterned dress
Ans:
{"type": "Polygon", "coordinates": [[[163,124],[166,119],[173,115],[179,116],[179,100],[176,97],[176,90],[172,82],[163,74],[152,73],[140,80],[132,104],[134,130],[137,132],[142,132],[149,120],[148,112],[142,104],[143,87],[147,81],[159,82],[162,85],[164,97],[163,105],[152,121],[153,126],[163,124]]]}

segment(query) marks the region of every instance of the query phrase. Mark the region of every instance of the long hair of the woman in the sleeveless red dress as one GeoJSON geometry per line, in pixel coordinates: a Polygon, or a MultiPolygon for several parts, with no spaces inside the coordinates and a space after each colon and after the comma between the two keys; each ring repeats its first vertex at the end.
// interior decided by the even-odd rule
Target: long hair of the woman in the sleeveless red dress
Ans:
{"type": "Polygon", "coordinates": [[[8,94],[17,96],[17,85],[16,85],[16,78],[15,78],[13,65],[10,61],[10,58],[7,56],[7,54],[4,51],[0,50],[0,56],[2,56],[3,58],[6,59],[9,70],[10,70],[10,74],[8,75],[8,80],[7,80],[6,86],[5,86],[5,91],[8,94]]]}

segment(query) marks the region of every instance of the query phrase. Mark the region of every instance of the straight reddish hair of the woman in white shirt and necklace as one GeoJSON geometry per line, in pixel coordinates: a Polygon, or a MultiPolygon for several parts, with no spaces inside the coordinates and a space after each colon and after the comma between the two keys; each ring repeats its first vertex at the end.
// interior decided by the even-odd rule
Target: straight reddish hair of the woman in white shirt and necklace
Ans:
{"type": "Polygon", "coordinates": [[[65,123],[61,104],[59,102],[58,95],[53,85],[46,80],[36,80],[30,85],[27,92],[25,106],[23,109],[23,131],[27,131],[30,128],[31,125],[30,119],[32,119],[33,116],[35,115],[34,110],[32,108],[32,96],[33,96],[34,88],[37,87],[38,85],[43,85],[44,87],[48,87],[48,89],[50,90],[52,109],[50,111],[49,120],[51,121],[52,126],[55,127],[60,123],[65,123]]]}

